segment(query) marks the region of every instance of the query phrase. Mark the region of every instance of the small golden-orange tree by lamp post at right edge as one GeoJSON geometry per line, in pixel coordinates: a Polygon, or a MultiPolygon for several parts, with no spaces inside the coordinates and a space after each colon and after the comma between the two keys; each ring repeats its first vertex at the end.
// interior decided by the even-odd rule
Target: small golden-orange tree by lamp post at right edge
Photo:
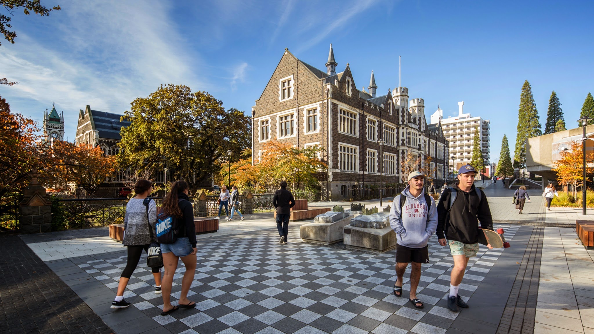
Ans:
{"type": "MultiPolygon", "coordinates": [[[[586,155],[586,174],[592,174],[594,168],[587,165],[592,163],[592,156],[586,155]]],[[[561,159],[553,162],[554,168],[551,169],[557,172],[557,181],[563,185],[573,185],[573,197],[576,197],[577,187],[583,186],[583,150],[582,143],[573,142],[570,149],[561,151],[561,159]]]]}

